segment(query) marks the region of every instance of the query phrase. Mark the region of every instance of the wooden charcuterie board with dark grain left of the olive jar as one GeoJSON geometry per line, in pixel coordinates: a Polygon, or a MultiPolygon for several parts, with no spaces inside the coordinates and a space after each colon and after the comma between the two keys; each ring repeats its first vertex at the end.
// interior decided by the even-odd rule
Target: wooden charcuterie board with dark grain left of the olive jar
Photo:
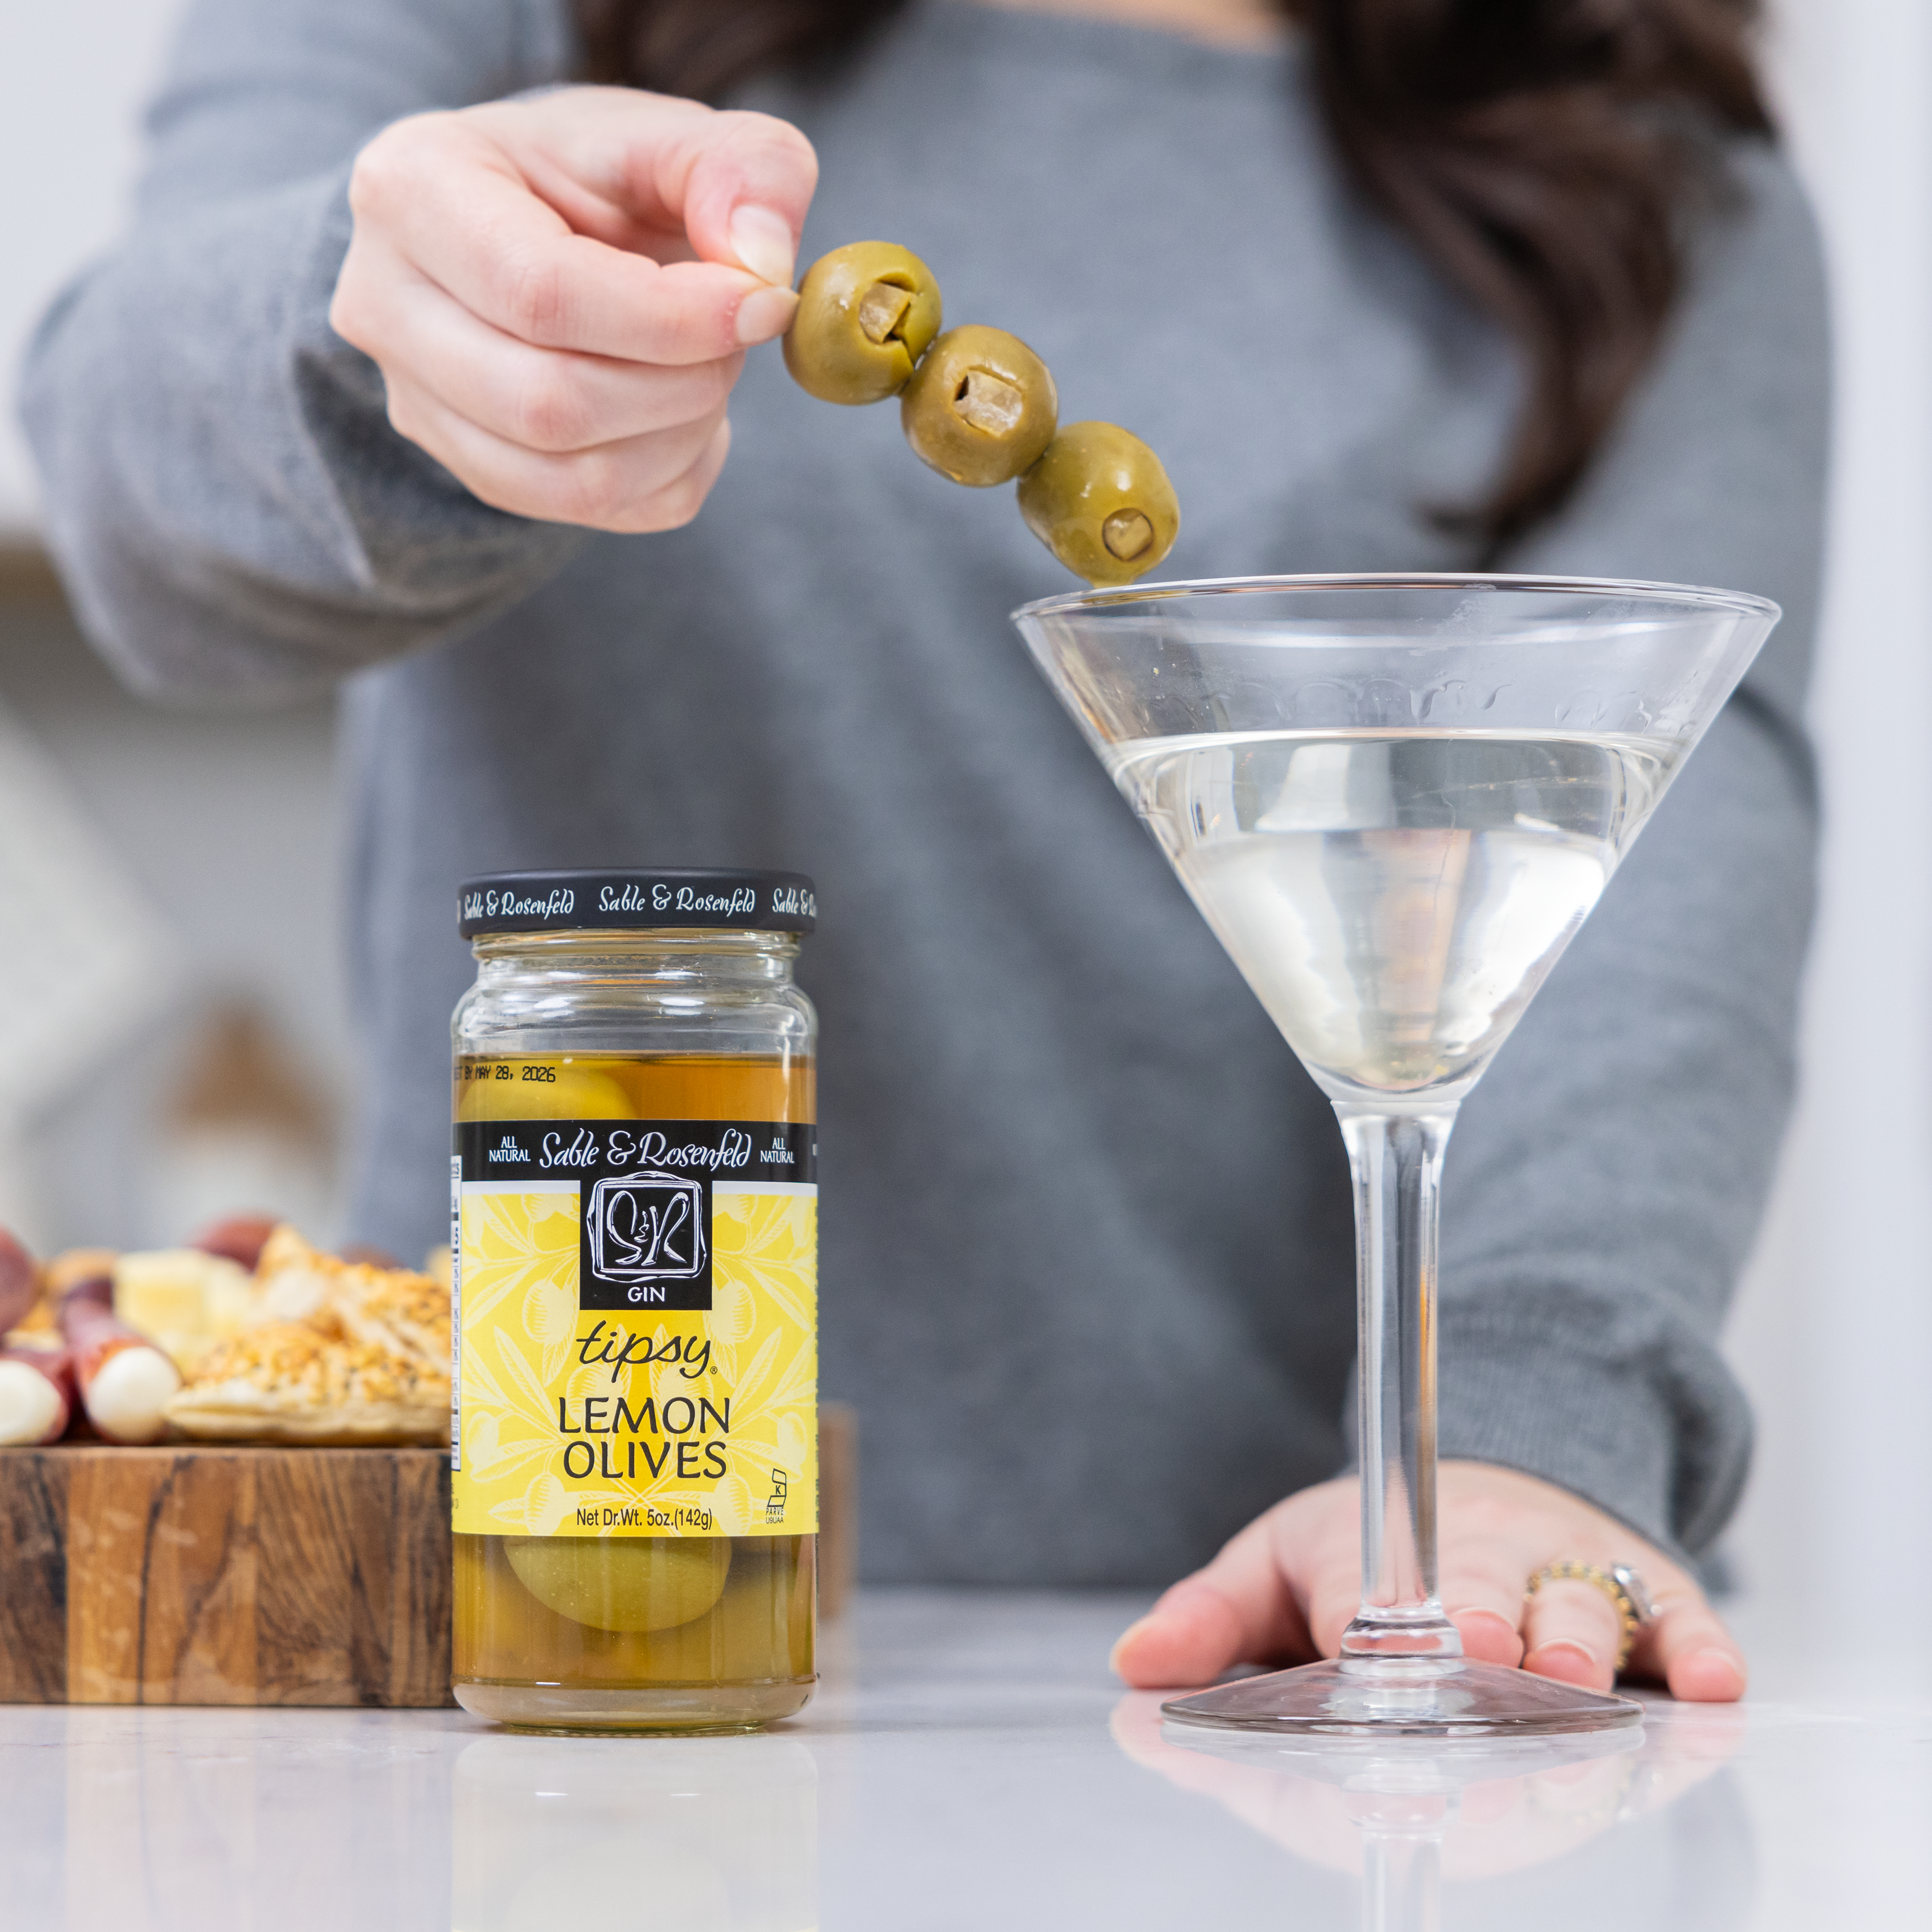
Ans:
{"type": "Polygon", "coordinates": [[[450,1702],[437,1449],[0,1449],[0,1702],[450,1702]]]}

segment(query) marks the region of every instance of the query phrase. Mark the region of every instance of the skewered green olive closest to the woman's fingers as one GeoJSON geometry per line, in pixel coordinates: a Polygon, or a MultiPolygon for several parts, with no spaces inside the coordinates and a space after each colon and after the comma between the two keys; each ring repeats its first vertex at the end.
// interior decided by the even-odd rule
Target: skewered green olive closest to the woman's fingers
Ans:
{"type": "Polygon", "coordinates": [[[819,402],[883,402],[939,334],[939,284],[912,249],[850,242],[798,284],[784,367],[819,402]]]}

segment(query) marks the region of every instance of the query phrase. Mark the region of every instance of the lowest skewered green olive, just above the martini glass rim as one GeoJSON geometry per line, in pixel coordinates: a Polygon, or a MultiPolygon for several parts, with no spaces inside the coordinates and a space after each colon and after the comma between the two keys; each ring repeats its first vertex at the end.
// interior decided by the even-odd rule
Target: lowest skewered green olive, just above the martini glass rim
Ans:
{"type": "Polygon", "coordinates": [[[1020,516],[1088,583],[1132,583],[1180,535],[1159,456],[1115,423],[1068,423],[1020,477],[1020,516]]]}

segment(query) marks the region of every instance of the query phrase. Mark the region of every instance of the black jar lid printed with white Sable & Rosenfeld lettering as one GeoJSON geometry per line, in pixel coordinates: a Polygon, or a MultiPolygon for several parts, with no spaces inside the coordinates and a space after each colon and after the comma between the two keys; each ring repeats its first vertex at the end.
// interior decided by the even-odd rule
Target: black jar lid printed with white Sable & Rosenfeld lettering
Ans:
{"type": "Polygon", "coordinates": [[[639,871],[491,871],[466,879],[464,939],[487,933],[609,933],[672,925],[810,933],[817,895],[802,871],[653,866],[639,871]]]}

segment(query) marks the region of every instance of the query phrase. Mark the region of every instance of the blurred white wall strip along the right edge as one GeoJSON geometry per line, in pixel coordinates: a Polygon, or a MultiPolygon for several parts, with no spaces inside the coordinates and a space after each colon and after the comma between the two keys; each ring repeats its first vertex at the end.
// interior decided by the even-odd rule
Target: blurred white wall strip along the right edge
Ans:
{"type": "Polygon", "coordinates": [[[1837,321],[1826,891],[1803,1103],[1733,1325],[1760,1414],[1733,1548],[1754,1596],[1843,1642],[1853,1605],[1872,1633],[1932,1590],[1932,6],[1777,15],[1837,321]]]}

